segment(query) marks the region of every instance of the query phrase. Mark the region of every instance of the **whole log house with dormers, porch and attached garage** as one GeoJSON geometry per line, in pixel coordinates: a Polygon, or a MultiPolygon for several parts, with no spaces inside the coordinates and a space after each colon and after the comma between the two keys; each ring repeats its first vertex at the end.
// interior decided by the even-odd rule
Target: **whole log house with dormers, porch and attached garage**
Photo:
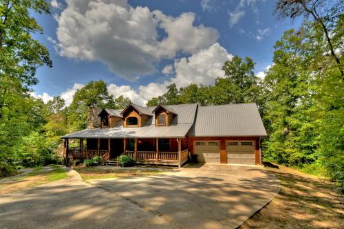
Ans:
{"type": "Polygon", "coordinates": [[[89,108],[88,121],[87,129],[62,137],[65,159],[130,155],[137,163],[182,166],[197,155],[200,163],[261,165],[260,139],[266,136],[255,103],[129,103],[124,110],[89,108]],[[69,139],[78,146],[69,147],[69,139]]]}

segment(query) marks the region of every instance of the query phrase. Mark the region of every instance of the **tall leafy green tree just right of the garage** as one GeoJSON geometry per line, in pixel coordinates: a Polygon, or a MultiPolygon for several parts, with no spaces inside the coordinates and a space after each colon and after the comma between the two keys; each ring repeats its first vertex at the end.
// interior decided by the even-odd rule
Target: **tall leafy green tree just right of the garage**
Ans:
{"type": "Polygon", "coordinates": [[[266,153],[275,161],[294,166],[316,160],[314,79],[302,53],[303,40],[294,30],[283,34],[275,45],[274,64],[266,72],[264,119],[270,134],[266,153]]]}

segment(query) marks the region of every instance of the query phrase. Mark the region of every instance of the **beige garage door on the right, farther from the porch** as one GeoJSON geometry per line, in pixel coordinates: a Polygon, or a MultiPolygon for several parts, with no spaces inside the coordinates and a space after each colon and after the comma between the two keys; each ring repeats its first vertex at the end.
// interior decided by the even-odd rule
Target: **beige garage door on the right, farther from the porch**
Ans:
{"type": "Polygon", "coordinates": [[[227,163],[255,164],[255,141],[226,141],[227,163]]]}

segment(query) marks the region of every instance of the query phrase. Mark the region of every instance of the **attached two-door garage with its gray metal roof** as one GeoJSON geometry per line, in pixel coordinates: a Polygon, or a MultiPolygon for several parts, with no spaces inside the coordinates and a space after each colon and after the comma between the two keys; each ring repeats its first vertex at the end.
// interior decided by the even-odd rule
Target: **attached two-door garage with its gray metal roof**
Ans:
{"type": "Polygon", "coordinates": [[[259,144],[265,136],[255,103],[199,106],[189,132],[189,150],[201,163],[261,165],[259,144]]]}

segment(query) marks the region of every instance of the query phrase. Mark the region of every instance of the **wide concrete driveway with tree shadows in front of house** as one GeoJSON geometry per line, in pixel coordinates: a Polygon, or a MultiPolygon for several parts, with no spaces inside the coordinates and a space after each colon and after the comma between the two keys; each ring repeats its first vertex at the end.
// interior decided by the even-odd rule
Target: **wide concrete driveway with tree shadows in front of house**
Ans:
{"type": "Polygon", "coordinates": [[[75,171],[0,197],[0,228],[236,228],[279,192],[259,167],[198,165],[80,181],[75,171]]]}

